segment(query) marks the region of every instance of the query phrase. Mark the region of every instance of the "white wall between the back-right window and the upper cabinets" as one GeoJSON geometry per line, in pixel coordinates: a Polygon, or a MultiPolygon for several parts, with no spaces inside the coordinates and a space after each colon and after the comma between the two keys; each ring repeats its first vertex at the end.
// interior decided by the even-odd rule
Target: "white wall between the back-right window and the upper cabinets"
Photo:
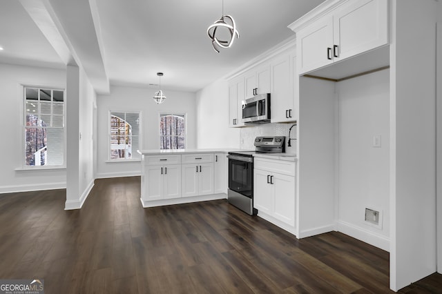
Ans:
{"type": "Polygon", "coordinates": [[[196,93],[198,148],[240,148],[240,129],[229,128],[229,85],[224,79],[196,93]]]}

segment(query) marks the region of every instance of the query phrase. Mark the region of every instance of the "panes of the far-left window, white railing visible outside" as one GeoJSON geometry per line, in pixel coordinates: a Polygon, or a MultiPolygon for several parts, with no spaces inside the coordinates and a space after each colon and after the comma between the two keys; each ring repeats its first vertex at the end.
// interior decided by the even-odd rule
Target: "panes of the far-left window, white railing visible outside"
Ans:
{"type": "Polygon", "coordinates": [[[25,166],[64,165],[64,90],[24,88],[25,166]]]}

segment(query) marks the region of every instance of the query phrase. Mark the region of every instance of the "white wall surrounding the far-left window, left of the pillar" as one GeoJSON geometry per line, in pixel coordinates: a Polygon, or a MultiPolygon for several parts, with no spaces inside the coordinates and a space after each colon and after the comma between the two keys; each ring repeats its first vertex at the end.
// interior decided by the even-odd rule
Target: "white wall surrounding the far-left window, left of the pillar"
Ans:
{"type": "Polygon", "coordinates": [[[0,63],[2,135],[0,193],[66,187],[66,170],[23,166],[23,86],[65,88],[66,71],[0,63]]]}

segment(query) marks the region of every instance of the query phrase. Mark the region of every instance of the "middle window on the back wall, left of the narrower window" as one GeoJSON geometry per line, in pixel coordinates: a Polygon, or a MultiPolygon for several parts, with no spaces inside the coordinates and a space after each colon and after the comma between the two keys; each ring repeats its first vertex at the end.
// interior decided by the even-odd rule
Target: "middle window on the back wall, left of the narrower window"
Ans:
{"type": "Polygon", "coordinates": [[[139,159],[140,112],[111,111],[110,118],[110,159],[139,159]]]}

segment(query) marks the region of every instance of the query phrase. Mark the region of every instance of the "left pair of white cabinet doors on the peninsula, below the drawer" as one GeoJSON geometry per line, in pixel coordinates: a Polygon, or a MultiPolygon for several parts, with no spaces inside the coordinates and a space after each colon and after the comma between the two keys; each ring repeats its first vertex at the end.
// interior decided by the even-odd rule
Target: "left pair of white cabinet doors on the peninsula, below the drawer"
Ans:
{"type": "Polygon", "coordinates": [[[181,197],[181,164],[146,166],[144,173],[148,200],[181,197]]]}

